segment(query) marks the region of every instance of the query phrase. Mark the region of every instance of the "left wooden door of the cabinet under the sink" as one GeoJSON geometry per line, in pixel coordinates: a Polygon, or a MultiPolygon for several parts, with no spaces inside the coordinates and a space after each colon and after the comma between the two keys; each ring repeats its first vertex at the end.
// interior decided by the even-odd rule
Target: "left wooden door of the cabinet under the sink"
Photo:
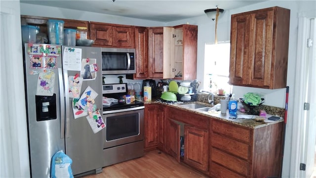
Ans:
{"type": "Polygon", "coordinates": [[[167,153],[180,162],[180,125],[172,120],[167,123],[167,153]]]}

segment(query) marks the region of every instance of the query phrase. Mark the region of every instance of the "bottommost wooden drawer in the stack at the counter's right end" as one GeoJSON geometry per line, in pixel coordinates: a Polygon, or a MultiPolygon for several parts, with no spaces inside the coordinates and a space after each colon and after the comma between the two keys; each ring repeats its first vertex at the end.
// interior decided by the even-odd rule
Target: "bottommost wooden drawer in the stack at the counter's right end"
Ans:
{"type": "Polygon", "coordinates": [[[213,178],[246,178],[240,176],[214,162],[211,163],[211,176],[213,178]]]}

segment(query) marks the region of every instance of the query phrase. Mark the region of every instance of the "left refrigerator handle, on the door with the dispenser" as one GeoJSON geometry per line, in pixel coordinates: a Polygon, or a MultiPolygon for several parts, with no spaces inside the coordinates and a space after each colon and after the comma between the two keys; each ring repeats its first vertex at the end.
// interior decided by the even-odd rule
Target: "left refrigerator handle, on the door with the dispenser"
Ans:
{"type": "Polygon", "coordinates": [[[60,138],[65,138],[65,96],[64,96],[64,82],[63,71],[58,68],[58,82],[59,82],[59,94],[60,94],[60,138]]]}

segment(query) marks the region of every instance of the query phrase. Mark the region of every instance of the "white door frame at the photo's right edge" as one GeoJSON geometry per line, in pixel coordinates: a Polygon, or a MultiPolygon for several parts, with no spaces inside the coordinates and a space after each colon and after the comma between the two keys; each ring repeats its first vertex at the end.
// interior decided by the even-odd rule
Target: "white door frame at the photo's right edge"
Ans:
{"type": "Polygon", "coordinates": [[[303,158],[304,143],[305,143],[305,121],[300,118],[304,118],[304,102],[305,98],[302,96],[306,95],[306,83],[307,76],[305,71],[307,71],[308,53],[307,53],[307,39],[309,37],[309,23],[312,18],[315,17],[315,11],[301,12],[298,14],[298,45],[297,45],[297,57],[296,57],[296,75],[294,84],[294,107],[298,108],[293,111],[293,118],[296,118],[296,124],[293,125],[297,127],[292,128],[292,144],[291,144],[291,162],[290,162],[290,175],[291,177],[301,177],[302,171],[300,171],[300,163],[303,158]]]}

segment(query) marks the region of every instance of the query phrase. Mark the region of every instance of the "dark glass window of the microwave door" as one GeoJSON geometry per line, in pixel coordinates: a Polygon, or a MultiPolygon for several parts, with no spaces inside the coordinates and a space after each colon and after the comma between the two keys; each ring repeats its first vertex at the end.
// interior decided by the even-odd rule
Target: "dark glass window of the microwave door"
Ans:
{"type": "Polygon", "coordinates": [[[102,52],[102,70],[126,70],[126,52],[102,52]]]}

